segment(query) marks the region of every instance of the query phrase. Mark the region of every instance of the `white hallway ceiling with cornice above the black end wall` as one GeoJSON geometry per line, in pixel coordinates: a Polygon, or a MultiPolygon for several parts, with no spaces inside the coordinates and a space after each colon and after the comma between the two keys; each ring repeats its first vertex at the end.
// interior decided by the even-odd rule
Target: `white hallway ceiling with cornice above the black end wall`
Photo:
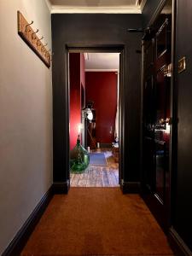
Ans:
{"type": "Polygon", "coordinates": [[[51,13],[122,13],[140,14],[138,0],[45,0],[51,13]]]}

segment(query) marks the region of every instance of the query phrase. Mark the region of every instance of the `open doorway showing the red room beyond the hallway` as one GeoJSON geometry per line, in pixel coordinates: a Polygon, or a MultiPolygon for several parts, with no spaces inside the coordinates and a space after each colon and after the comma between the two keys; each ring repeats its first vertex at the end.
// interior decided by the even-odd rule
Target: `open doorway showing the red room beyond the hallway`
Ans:
{"type": "Polygon", "coordinates": [[[81,172],[70,165],[71,187],[118,187],[119,53],[69,53],[69,84],[70,152],[78,139],[90,158],[81,172]]]}

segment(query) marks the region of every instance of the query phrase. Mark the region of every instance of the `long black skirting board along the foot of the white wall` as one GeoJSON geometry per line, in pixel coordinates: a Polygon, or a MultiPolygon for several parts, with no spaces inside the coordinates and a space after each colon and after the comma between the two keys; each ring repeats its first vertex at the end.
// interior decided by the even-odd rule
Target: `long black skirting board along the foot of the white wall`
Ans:
{"type": "Polygon", "coordinates": [[[14,239],[9,243],[9,246],[5,249],[2,256],[19,256],[22,248],[25,246],[27,239],[32,234],[36,224],[44,213],[44,210],[49,204],[53,196],[52,186],[49,188],[47,193],[43,196],[37,207],[33,210],[29,218],[22,225],[14,239]]]}

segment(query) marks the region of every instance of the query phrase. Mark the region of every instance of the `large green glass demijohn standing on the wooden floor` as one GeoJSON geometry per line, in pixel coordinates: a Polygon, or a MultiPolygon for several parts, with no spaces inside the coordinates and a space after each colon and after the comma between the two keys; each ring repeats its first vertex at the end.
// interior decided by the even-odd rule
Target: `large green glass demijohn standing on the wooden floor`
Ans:
{"type": "Polygon", "coordinates": [[[78,135],[77,144],[70,152],[70,168],[71,172],[81,173],[89,166],[90,154],[82,147],[80,137],[78,135]]]}

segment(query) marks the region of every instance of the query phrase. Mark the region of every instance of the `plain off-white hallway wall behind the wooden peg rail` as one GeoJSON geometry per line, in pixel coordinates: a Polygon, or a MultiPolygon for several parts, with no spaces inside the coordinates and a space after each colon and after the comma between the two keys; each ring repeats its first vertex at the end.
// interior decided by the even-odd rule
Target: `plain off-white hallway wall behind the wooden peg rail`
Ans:
{"type": "Polygon", "coordinates": [[[51,71],[17,34],[17,10],[51,46],[44,0],[0,0],[0,254],[52,183],[51,71]]]}

